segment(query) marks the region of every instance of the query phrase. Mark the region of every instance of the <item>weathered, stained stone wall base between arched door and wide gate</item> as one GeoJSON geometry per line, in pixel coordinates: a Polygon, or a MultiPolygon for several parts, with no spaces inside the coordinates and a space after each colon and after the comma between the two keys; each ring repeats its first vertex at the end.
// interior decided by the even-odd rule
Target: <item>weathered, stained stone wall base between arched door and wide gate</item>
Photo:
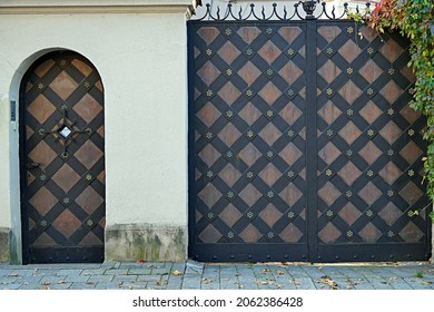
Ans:
{"type": "Polygon", "coordinates": [[[184,226],[116,224],[106,227],[106,262],[186,261],[184,226]]]}

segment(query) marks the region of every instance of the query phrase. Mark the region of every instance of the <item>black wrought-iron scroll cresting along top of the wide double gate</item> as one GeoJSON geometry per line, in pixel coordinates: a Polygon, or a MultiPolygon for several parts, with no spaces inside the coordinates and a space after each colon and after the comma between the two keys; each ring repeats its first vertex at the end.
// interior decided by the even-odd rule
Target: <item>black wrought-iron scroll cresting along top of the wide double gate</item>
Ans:
{"type": "MultiPolygon", "coordinates": [[[[273,3],[273,9],[266,10],[265,6],[262,6],[260,9],[257,8],[255,3],[250,3],[248,7],[243,8],[239,7],[239,10],[234,9],[233,3],[228,3],[225,12],[220,9],[219,6],[213,8],[210,3],[206,4],[206,12],[203,17],[195,18],[191,20],[196,21],[226,21],[226,20],[235,20],[235,21],[247,21],[247,20],[256,20],[256,21],[269,21],[269,20],[312,20],[312,19],[329,19],[329,20],[339,20],[339,19],[348,19],[349,8],[348,3],[343,3],[343,12],[336,13],[336,6],[326,3],[325,1],[320,2],[320,0],[304,0],[294,3],[294,9],[290,9],[288,12],[287,6],[280,6],[277,3],[273,3]],[[317,3],[320,3],[322,8],[317,10],[317,3]],[[299,8],[303,8],[303,12],[299,8]],[[236,12],[237,10],[237,12],[236,12]],[[272,10],[272,12],[269,12],[272,10]],[[258,11],[260,11],[258,13],[258,11]],[[318,12],[317,12],[318,11],[318,12]],[[317,14],[315,14],[317,12],[317,14]]],[[[355,8],[356,13],[359,13],[358,4],[355,8]]],[[[365,3],[365,13],[371,12],[371,3],[365,3]]]]}

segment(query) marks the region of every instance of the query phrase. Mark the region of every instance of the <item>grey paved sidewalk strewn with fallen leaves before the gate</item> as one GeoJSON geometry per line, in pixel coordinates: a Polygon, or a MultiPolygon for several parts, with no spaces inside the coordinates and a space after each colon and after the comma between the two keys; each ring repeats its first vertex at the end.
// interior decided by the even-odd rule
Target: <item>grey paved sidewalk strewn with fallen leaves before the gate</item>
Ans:
{"type": "Polygon", "coordinates": [[[434,265],[388,264],[0,264],[4,290],[425,290],[434,265]]]}

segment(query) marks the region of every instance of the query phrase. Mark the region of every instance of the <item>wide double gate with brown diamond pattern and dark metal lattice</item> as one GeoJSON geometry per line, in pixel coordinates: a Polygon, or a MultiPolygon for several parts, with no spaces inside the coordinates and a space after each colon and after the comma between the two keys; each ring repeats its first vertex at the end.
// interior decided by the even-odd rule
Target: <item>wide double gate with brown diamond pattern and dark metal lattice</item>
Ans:
{"type": "Polygon", "coordinates": [[[189,255],[427,259],[408,42],[348,20],[226,18],[188,22],[189,255]]]}

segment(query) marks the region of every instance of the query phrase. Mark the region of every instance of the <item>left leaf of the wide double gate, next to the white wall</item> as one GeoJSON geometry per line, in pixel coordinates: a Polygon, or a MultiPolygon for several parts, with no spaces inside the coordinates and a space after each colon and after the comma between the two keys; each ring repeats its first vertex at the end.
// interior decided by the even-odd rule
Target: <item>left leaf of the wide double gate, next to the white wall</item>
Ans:
{"type": "Polygon", "coordinates": [[[191,28],[198,260],[307,257],[304,27],[191,28]]]}

